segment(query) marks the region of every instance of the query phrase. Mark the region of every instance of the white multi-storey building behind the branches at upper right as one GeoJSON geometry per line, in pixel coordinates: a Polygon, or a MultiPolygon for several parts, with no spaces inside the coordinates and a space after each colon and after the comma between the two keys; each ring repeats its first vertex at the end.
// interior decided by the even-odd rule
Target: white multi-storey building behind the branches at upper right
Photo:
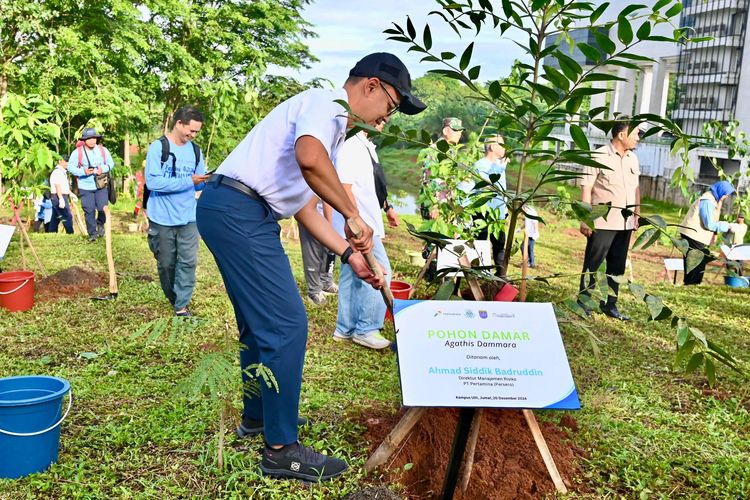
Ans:
{"type": "MultiPolygon", "coordinates": [[[[642,3],[651,6],[655,0],[642,3]]],[[[703,134],[703,124],[706,122],[737,120],[739,129],[750,135],[750,50],[744,50],[746,45],[750,45],[750,30],[747,27],[749,5],[750,0],[684,0],[681,26],[693,28],[693,37],[713,39],[684,45],[639,43],[633,52],[646,55],[654,62],[633,61],[638,64],[638,71],[611,67],[609,71],[624,81],[599,83],[609,85],[612,92],[592,96],[591,108],[606,106],[608,116],[616,112],[669,116],[684,132],[696,136],[703,134]]],[[[602,21],[614,20],[618,7],[610,7],[611,17],[607,19],[605,13],[602,21]]],[[[634,21],[634,30],[638,26],[639,22],[634,21]]],[[[672,35],[670,25],[660,25],[658,30],[653,34],[672,35]]],[[[596,46],[586,28],[578,30],[574,38],[589,38],[585,41],[596,46]]],[[[610,38],[617,40],[615,33],[610,38]]],[[[556,41],[547,40],[547,43],[553,42],[556,41]]],[[[591,62],[586,61],[578,51],[574,51],[573,56],[583,65],[591,62]]],[[[592,145],[603,144],[607,140],[595,127],[590,127],[588,133],[592,145]]],[[[652,197],[679,201],[674,196],[667,196],[669,179],[680,165],[679,159],[669,155],[668,142],[658,138],[647,140],[639,146],[637,154],[644,176],[661,179],[660,182],[657,179],[647,180],[654,188],[646,191],[652,191],[652,197]]],[[[729,174],[747,169],[746,160],[727,158],[726,149],[698,148],[690,154],[690,167],[698,184],[710,184],[718,178],[709,158],[715,158],[729,174]]]]}

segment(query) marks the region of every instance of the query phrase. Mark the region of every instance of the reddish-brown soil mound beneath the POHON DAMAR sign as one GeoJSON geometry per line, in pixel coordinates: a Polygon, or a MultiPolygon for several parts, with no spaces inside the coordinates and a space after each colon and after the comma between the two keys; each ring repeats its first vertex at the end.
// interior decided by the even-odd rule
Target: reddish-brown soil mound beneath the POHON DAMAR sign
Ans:
{"type": "MultiPolygon", "coordinates": [[[[388,435],[401,414],[365,422],[370,452],[388,435]]],[[[565,427],[577,427],[572,417],[568,420],[565,427]]],[[[386,479],[404,485],[409,498],[439,498],[457,421],[458,410],[454,408],[427,412],[398,454],[386,464],[386,479]],[[405,471],[406,464],[412,465],[405,471]]],[[[568,489],[572,489],[576,449],[558,427],[541,422],[540,427],[557,469],[568,489]]],[[[483,412],[474,460],[468,490],[461,494],[457,487],[457,500],[554,497],[555,486],[519,410],[483,412]]]]}

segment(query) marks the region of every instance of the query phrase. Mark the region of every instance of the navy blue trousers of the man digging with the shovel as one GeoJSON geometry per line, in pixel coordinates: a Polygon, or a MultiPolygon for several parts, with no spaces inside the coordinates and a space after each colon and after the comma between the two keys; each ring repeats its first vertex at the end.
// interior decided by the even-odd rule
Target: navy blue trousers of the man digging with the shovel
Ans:
{"type": "Polygon", "coordinates": [[[263,420],[266,442],[297,440],[307,314],[279,224],[268,206],[225,185],[209,183],[198,200],[198,231],[219,267],[240,332],[243,386],[256,379],[245,368],[262,363],[278,391],[260,383],[260,395],[243,391],[246,418],[263,420]]]}

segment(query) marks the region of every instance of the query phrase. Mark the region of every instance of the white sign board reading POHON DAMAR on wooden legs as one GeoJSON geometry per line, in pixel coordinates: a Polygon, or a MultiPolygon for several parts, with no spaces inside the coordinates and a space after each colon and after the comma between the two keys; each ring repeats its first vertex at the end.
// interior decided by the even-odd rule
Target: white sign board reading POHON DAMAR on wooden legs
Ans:
{"type": "Polygon", "coordinates": [[[578,409],[552,304],[397,300],[405,406],[578,409]]]}

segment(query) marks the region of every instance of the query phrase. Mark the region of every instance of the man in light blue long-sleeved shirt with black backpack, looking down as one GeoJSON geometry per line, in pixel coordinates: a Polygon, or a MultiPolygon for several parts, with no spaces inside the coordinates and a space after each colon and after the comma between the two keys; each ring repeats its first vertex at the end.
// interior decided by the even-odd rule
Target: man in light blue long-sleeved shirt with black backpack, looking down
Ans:
{"type": "Polygon", "coordinates": [[[148,246],[156,258],[161,289],[176,316],[190,316],[200,241],[195,192],[208,179],[200,148],[192,143],[203,115],[191,106],[175,111],[172,130],[151,143],[146,155],[148,246]],[[165,153],[165,146],[169,154],[165,153]],[[162,159],[166,161],[162,162],[162,159]]]}

